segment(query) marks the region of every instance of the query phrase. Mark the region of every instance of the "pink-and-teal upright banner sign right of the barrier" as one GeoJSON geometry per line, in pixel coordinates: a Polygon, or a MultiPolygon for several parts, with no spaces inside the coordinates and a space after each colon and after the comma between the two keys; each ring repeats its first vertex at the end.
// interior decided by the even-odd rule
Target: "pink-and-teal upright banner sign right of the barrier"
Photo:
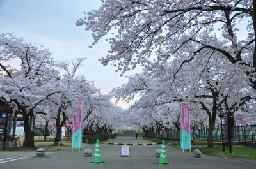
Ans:
{"type": "Polygon", "coordinates": [[[191,152],[190,117],[188,103],[180,103],[180,148],[191,152]]]}

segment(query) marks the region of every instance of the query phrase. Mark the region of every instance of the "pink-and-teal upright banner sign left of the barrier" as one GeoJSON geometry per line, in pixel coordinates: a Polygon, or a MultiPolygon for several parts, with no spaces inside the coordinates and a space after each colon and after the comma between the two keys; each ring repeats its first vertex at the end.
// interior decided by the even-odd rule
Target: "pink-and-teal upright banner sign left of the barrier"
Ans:
{"type": "Polygon", "coordinates": [[[83,102],[79,101],[74,115],[72,151],[74,149],[82,150],[82,136],[83,136],[83,102]]]}

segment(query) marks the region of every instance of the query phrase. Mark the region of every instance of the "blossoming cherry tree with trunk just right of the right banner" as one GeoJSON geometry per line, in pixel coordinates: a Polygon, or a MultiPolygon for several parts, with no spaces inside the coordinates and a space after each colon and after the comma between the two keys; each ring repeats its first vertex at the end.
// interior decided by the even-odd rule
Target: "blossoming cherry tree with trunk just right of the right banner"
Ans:
{"type": "MultiPolygon", "coordinates": [[[[175,67],[177,62],[178,59],[173,59],[172,67],[175,67]]],[[[205,54],[205,57],[200,59],[193,59],[189,64],[179,68],[179,72],[174,71],[173,77],[176,79],[172,80],[174,87],[170,90],[176,95],[173,95],[173,98],[189,103],[200,103],[201,108],[208,114],[209,147],[213,146],[216,116],[228,114],[233,117],[235,111],[241,109],[255,96],[255,90],[248,85],[250,83],[248,78],[241,76],[243,75],[241,71],[243,71],[241,68],[233,68],[232,64],[221,55],[213,53],[205,54]],[[207,63],[206,66],[204,62],[207,63]],[[191,69],[193,66],[197,69],[191,69]]],[[[169,92],[165,91],[165,93],[169,92]]],[[[233,126],[234,123],[231,121],[230,128],[233,126]]],[[[232,134],[230,136],[232,138],[232,134]]]]}

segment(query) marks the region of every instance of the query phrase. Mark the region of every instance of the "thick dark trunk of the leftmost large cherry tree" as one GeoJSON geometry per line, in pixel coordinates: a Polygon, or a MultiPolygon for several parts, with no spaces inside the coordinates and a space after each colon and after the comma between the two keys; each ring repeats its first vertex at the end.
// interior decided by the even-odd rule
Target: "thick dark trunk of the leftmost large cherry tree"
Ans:
{"type": "Polygon", "coordinates": [[[29,115],[26,113],[23,113],[23,119],[24,119],[24,131],[25,131],[24,146],[29,148],[35,148],[35,145],[34,145],[35,132],[31,129],[31,126],[29,125],[29,115]]]}

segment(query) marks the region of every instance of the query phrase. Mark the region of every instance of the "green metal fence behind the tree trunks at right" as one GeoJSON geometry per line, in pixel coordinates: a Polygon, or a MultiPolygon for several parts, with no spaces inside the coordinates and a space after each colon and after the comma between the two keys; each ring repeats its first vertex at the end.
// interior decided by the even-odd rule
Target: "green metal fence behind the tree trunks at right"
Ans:
{"type": "MultiPolygon", "coordinates": [[[[196,140],[206,140],[209,129],[196,130],[196,140]]],[[[214,128],[213,140],[222,141],[221,128],[214,128]]],[[[235,126],[234,127],[234,140],[233,142],[248,142],[256,143],[256,125],[250,126],[235,126]]]]}

